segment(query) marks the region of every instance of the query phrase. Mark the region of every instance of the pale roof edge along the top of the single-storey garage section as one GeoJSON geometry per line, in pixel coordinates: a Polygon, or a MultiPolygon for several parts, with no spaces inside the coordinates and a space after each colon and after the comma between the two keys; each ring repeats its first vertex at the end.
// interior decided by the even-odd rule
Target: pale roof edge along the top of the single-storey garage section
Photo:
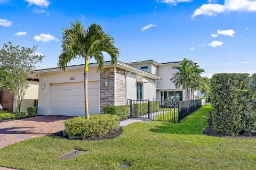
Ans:
{"type": "MultiPolygon", "coordinates": [[[[98,63],[90,63],[88,66],[89,67],[97,67],[98,63]]],[[[112,66],[111,61],[106,61],[104,63],[104,66],[105,67],[112,66]]],[[[151,78],[154,80],[161,79],[161,77],[159,77],[155,74],[143,71],[141,69],[138,69],[137,67],[131,66],[129,64],[126,64],[126,63],[123,63],[120,61],[117,61],[114,66],[121,68],[123,70],[129,71],[129,72],[132,71],[133,73],[136,73],[136,74],[139,74],[139,75],[142,75],[144,77],[148,77],[148,78],[151,78]]],[[[75,70],[75,69],[83,69],[83,68],[84,68],[84,64],[66,66],[66,70],[75,70]]],[[[59,67],[54,67],[54,68],[50,68],[50,69],[35,70],[34,73],[50,73],[50,72],[60,72],[60,71],[62,71],[62,70],[59,67]]]]}

